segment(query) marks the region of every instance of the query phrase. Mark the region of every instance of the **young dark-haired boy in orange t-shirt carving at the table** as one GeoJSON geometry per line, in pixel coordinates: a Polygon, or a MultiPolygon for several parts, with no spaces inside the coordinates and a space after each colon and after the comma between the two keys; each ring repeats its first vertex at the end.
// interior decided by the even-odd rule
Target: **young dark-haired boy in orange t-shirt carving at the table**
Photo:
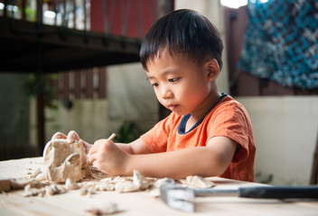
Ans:
{"type": "MultiPolygon", "coordinates": [[[[154,93],[172,113],[129,144],[84,141],[89,163],[108,175],[184,178],[213,176],[254,181],[255,141],[248,112],[216,79],[222,67],[220,32],[192,10],[159,19],[140,58],[154,93]]],[[[58,132],[52,139],[79,139],[58,132]]]]}

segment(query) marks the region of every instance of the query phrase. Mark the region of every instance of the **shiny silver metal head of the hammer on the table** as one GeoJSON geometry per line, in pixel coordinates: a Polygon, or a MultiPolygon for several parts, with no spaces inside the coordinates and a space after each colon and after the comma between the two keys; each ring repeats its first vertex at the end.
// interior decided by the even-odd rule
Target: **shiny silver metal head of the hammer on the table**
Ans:
{"type": "Polygon", "coordinates": [[[178,186],[170,178],[164,180],[160,186],[160,199],[173,209],[195,211],[195,204],[191,202],[194,197],[193,189],[178,186]]]}

